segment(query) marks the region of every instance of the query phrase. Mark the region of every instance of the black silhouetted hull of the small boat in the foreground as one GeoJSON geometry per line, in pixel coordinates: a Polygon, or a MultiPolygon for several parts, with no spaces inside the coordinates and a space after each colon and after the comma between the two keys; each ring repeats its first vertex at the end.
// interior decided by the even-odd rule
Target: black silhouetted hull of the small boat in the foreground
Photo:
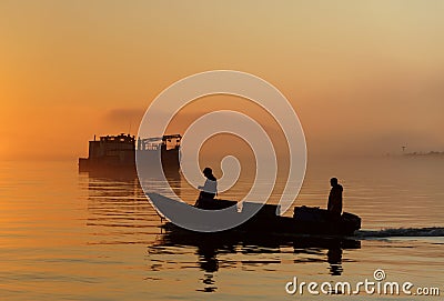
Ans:
{"type": "MultiPolygon", "coordinates": [[[[159,193],[148,194],[151,202],[161,211],[167,213],[163,218],[169,217],[168,212],[181,212],[178,224],[190,224],[194,222],[196,229],[204,229],[201,223],[216,223],[218,221],[211,219],[201,219],[195,208],[159,193]],[[188,220],[188,221],[186,221],[188,220]]],[[[240,231],[245,233],[274,233],[282,235],[294,234],[324,234],[324,235],[352,235],[356,230],[361,229],[361,218],[349,212],[343,212],[339,220],[330,218],[325,209],[310,208],[310,207],[295,207],[293,217],[281,217],[276,213],[280,212],[280,205],[275,204],[261,204],[253,202],[240,203],[231,200],[219,199],[200,199],[196,207],[202,210],[225,210],[230,213],[233,220],[242,215],[242,209],[258,210],[256,214],[250,218],[246,222],[236,225],[233,229],[224,230],[221,232],[240,231]]],[[[178,215],[178,214],[175,214],[178,215]]],[[[195,232],[168,222],[165,229],[172,229],[183,232],[195,232]]],[[[211,227],[208,227],[211,229],[211,227]]],[[[209,234],[212,234],[209,231],[209,234]]]]}

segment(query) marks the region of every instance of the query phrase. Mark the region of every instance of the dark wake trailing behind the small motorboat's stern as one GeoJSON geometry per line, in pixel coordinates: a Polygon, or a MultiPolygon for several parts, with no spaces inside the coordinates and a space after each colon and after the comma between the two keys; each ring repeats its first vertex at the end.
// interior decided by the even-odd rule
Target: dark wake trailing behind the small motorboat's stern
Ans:
{"type": "Polygon", "coordinates": [[[444,237],[444,228],[396,228],[383,230],[360,230],[355,232],[357,238],[393,238],[393,237],[444,237]]]}

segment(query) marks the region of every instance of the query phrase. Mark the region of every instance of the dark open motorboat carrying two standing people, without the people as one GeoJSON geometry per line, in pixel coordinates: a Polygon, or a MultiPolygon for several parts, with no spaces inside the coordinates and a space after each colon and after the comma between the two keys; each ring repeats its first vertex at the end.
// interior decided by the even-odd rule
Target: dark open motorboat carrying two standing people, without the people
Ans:
{"type": "MultiPolygon", "coordinates": [[[[183,215],[190,210],[188,204],[180,203],[160,194],[150,195],[150,199],[155,205],[162,208],[162,210],[183,210],[183,215]]],[[[199,200],[196,207],[204,210],[234,208],[235,210],[231,210],[233,214],[231,217],[233,217],[233,219],[236,218],[235,214],[241,214],[236,213],[236,201],[203,199],[199,200]]],[[[276,215],[276,212],[280,212],[280,207],[273,204],[262,205],[260,203],[243,202],[242,208],[249,210],[252,208],[260,209],[254,217],[246,222],[226,231],[269,232],[287,235],[301,233],[350,235],[353,234],[354,231],[361,229],[361,218],[349,212],[344,212],[340,219],[336,220],[332,219],[326,210],[320,208],[296,207],[293,217],[276,215]]],[[[190,214],[190,217],[192,215],[190,214]]],[[[169,227],[174,225],[170,223],[169,227]]]]}

